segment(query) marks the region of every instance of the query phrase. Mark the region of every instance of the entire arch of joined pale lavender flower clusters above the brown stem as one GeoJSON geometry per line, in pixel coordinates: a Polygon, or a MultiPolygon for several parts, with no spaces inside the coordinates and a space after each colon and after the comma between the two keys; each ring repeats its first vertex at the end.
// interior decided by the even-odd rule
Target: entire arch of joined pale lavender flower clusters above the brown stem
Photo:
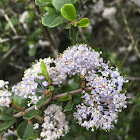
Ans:
{"type": "Polygon", "coordinates": [[[85,44],[68,47],[56,60],[45,58],[36,61],[12,91],[36,104],[49,85],[44,76],[38,75],[41,73],[40,63],[44,61],[53,85],[60,86],[72,75],[83,77],[86,81],[88,91],[83,89],[83,102],[77,105],[74,113],[78,123],[87,130],[94,131],[95,127],[109,130],[114,127],[113,122],[117,123],[118,112],[127,107],[122,86],[128,81],[120,76],[117,68],[109,62],[105,63],[100,54],[85,44]],[[55,66],[51,67],[51,63],[55,66]]]}

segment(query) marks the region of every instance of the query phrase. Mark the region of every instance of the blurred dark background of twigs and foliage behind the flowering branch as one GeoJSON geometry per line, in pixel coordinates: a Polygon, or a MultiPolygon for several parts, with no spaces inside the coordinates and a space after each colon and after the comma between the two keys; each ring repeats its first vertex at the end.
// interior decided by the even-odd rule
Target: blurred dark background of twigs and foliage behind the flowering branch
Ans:
{"type": "MultiPolygon", "coordinates": [[[[70,133],[61,140],[139,140],[140,139],[140,1],[139,0],[79,0],[77,11],[91,24],[79,28],[78,43],[87,43],[102,51],[102,57],[118,67],[130,81],[127,90],[128,108],[119,114],[115,129],[110,132],[86,131],[76,124],[70,112],[70,133]]],[[[19,82],[24,70],[39,58],[53,57],[74,45],[63,25],[48,29],[41,24],[46,14],[34,0],[0,1],[0,79],[10,86],[19,82]]],[[[63,85],[61,91],[78,88],[78,82],[63,85]]],[[[74,96],[74,104],[80,103],[74,96]]],[[[8,136],[9,140],[16,137],[8,136]]]]}

